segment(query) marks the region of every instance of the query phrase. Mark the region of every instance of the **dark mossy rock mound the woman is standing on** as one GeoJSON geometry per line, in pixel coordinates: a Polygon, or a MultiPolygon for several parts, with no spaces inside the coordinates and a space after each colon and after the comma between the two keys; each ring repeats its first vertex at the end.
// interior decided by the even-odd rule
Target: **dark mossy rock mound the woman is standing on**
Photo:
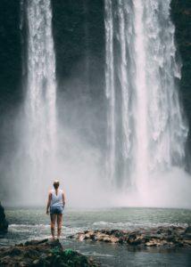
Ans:
{"type": "Polygon", "coordinates": [[[0,248],[0,266],[97,267],[99,263],[72,249],[63,250],[59,240],[31,240],[0,248]]]}

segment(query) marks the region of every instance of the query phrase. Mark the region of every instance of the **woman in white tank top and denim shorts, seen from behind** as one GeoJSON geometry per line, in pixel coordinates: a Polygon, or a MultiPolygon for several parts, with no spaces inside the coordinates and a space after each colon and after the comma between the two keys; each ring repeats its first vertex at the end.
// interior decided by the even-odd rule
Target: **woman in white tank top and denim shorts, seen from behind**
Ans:
{"type": "Polygon", "coordinates": [[[55,221],[57,221],[57,238],[61,236],[62,229],[62,212],[65,205],[65,195],[63,190],[59,190],[59,181],[54,181],[54,189],[50,190],[48,194],[48,201],[46,207],[46,214],[49,214],[50,207],[50,219],[51,219],[51,233],[54,239],[55,221]],[[56,220],[57,219],[57,220],[56,220]]]}

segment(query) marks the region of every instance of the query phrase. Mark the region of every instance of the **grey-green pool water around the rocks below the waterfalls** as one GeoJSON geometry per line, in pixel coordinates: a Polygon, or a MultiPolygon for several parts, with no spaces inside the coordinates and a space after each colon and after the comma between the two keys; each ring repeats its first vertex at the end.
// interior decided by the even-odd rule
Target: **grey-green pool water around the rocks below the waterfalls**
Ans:
{"type": "MultiPolygon", "coordinates": [[[[7,208],[9,233],[0,239],[7,246],[27,239],[50,237],[49,216],[44,208],[7,208]]],[[[191,210],[162,208],[66,209],[63,215],[62,245],[93,255],[104,266],[191,266],[191,250],[163,248],[127,248],[120,245],[79,242],[66,239],[86,229],[115,228],[134,230],[159,225],[191,223],[191,210]]]]}

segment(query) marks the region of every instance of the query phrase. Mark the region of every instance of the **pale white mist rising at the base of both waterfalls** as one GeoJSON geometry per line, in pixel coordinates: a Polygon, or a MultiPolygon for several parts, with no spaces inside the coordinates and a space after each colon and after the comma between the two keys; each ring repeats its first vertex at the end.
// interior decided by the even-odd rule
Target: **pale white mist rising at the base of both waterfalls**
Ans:
{"type": "MultiPolygon", "coordinates": [[[[69,82],[67,84],[69,85],[69,82]]],[[[63,96],[65,97],[64,94],[63,96]]],[[[13,122],[10,120],[7,123],[7,125],[13,125],[17,143],[15,142],[16,150],[9,151],[9,157],[4,157],[1,165],[1,173],[6,178],[1,186],[1,198],[6,206],[46,206],[48,190],[57,179],[65,191],[68,208],[112,206],[191,208],[191,177],[178,167],[152,174],[145,179],[147,182],[144,186],[141,183],[134,184],[132,187],[123,184],[119,188],[108,182],[105,174],[104,151],[99,144],[95,145],[95,139],[92,138],[90,142],[91,134],[95,133],[90,125],[81,125],[81,120],[86,121],[86,117],[82,119],[77,115],[79,109],[84,109],[83,114],[87,114],[88,119],[94,121],[97,126],[99,117],[95,117],[95,107],[89,109],[84,99],[78,99],[79,104],[76,101],[72,104],[72,101],[67,99],[65,101],[68,104],[60,107],[60,117],[66,109],[68,112],[65,113],[64,119],[62,117],[60,123],[59,118],[57,119],[59,149],[56,153],[55,166],[47,165],[39,182],[35,182],[35,177],[32,177],[35,183],[33,187],[29,187],[31,166],[20,145],[23,141],[21,130],[21,125],[24,125],[23,109],[15,112],[13,122]],[[81,108],[81,101],[84,102],[83,108],[81,108]],[[62,109],[63,106],[64,109],[62,109]],[[72,116],[72,114],[76,115],[72,116]],[[70,121],[67,126],[67,120],[70,117],[72,123],[70,121]]],[[[5,121],[7,122],[8,119],[10,118],[7,117],[5,121]]],[[[137,177],[134,179],[137,181],[137,177]]]]}

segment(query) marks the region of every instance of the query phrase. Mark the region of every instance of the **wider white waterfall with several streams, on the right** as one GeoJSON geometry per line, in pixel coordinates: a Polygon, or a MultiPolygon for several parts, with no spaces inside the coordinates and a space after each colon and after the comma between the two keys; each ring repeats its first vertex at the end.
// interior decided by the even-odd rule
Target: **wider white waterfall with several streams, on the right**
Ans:
{"type": "Polygon", "coordinates": [[[107,178],[142,189],[152,174],[185,166],[188,128],[170,0],[104,6],[107,178]]]}

